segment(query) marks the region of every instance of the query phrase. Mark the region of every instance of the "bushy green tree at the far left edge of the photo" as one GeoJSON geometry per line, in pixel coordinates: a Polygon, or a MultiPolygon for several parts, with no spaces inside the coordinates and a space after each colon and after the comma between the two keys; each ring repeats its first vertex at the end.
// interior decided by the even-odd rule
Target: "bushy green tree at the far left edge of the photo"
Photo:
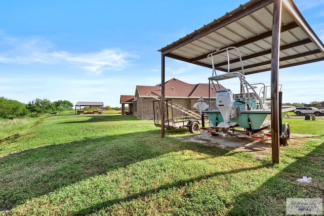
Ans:
{"type": "Polygon", "coordinates": [[[0,98],[0,117],[2,118],[20,118],[29,114],[26,105],[15,100],[0,98]]]}

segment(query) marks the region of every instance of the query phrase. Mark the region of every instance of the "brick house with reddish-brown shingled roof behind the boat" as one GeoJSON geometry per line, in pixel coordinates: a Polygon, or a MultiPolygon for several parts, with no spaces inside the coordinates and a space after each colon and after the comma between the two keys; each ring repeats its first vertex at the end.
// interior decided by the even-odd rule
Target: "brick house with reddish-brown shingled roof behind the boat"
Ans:
{"type": "MultiPolygon", "coordinates": [[[[215,89],[208,83],[189,84],[172,78],[165,83],[165,98],[166,100],[172,99],[172,103],[194,111],[193,105],[200,97],[203,97],[209,103],[209,88],[211,95],[216,96],[215,89]]],[[[224,87],[220,86],[220,88],[223,89],[224,87]]],[[[133,114],[138,119],[153,119],[153,101],[158,100],[160,95],[161,84],[155,86],[137,85],[132,100],[133,114]]],[[[183,115],[179,110],[174,110],[174,112],[174,115],[183,115]]]]}

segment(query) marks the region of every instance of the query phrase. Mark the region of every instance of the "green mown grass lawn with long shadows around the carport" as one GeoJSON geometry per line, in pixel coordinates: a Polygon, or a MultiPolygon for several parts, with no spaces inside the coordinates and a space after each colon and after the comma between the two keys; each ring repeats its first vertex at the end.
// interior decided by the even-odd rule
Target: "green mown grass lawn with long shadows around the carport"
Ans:
{"type": "Polygon", "coordinates": [[[134,116],[63,113],[1,120],[0,215],[283,215],[286,198],[324,197],[324,119],[271,154],[224,150],[134,116]],[[298,183],[302,176],[314,184],[298,183]]]}

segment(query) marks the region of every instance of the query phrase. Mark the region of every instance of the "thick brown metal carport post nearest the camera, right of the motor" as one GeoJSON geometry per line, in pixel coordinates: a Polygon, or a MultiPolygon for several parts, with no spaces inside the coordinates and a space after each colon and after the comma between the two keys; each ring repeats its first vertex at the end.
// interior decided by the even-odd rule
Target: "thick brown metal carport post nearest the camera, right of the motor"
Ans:
{"type": "Polygon", "coordinates": [[[272,50],[271,50],[271,149],[272,162],[280,163],[279,142],[279,103],[278,103],[278,78],[279,78],[279,52],[281,28],[282,0],[274,0],[272,23],[272,50]]]}

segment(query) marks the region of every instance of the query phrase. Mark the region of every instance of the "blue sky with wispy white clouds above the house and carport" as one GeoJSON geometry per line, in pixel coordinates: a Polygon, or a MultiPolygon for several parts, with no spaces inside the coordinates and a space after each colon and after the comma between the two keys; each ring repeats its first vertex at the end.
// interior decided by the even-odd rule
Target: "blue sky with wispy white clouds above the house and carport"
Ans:
{"type": "MultiPolygon", "coordinates": [[[[1,1],[0,97],[120,107],[120,95],[134,95],[136,85],[160,83],[158,49],[246,2],[1,1]]],[[[294,2],[324,41],[324,1],[294,2]]],[[[166,80],[208,83],[212,74],[169,58],[166,67],[166,80]]],[[[324,61],[281,69],[283,101],[324,101],[323,68],[324,61]]],[[[269,84],[270,72],[247,79],[269,84]]]]}

